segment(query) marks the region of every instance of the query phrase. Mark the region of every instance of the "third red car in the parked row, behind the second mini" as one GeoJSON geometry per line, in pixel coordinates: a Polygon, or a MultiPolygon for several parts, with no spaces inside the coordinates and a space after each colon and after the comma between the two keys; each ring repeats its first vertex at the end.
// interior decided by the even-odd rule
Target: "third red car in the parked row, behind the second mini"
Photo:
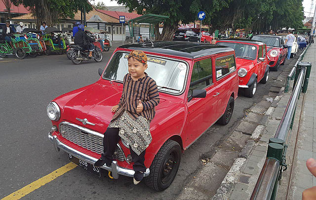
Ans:
{"type": "Polygon", "coordinates": [[[251,40],[258,40],[267,44],[270,70],[277,71],[280,65],[285,64],[287,48],[285,48],[281,36],[256,35],[251,40]]]}

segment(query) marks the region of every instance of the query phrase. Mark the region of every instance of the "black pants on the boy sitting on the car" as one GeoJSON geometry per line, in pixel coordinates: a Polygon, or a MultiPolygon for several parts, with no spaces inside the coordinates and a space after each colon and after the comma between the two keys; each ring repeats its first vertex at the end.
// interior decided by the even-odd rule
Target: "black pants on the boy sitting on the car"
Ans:
{"type": "MultiPolygon", "coordinates": [[[[107,128],[103,138],[103,147],[104,147],[104,154],[101,155],[101,158],[106,161],[107,165],[112,163],[112,155],[115,152],[117,147],[119,136],[118,136],[119,128],[107,128]]],[[[130,155],[133,159],[133,169],[135,171],[134,178],[137,181],[140,181],[144,177],[144,173],[146,171],[146,166],[144,164],[145,161],[145,151],[144,150],[139,156],[132,150],[129,146],[130,155]]]]}

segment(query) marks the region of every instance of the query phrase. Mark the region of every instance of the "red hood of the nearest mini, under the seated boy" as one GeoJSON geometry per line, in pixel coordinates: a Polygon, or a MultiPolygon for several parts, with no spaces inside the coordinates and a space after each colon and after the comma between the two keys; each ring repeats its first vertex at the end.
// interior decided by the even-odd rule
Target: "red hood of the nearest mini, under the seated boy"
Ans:
{"type": "MultiPolygon", "coordinates": [[[[111,108],[118,104],[119,98],[122,94],[122,84],[108,81],[99,81],[91,85],[82,87],[78,90],[66,93],[54,101],[61,109],[61,121],[70,121],[80,126],[104,133],[108,127],[114,113],[111,108]],[[95,125],[82,124],[78,119],[87,119],[95,125]]],[[[176,110],[184,110],[179,103],[173,103],[162,99],[160,96],[160,103],[155,107],[155,119],[151,122],[151,129],[155,128],[152,124],[163,122],[172,117],[172,113],[177,113],[176,110]],[[159,117],[160,116],[160,117],[159,117]],[[166,118],[168,116],[168,118],[166,118]]]]}

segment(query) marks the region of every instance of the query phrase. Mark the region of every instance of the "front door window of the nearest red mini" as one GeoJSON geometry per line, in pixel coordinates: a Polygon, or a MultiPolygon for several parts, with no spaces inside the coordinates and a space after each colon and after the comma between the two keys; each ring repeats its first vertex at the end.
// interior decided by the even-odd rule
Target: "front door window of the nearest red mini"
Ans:
{"type": "Polygon", "coordinates": [[[188,97],[192,95],[192,90],[203,89],[212,83],[212,60],[206,58],[195,62],[192,69],[188,97]]]}

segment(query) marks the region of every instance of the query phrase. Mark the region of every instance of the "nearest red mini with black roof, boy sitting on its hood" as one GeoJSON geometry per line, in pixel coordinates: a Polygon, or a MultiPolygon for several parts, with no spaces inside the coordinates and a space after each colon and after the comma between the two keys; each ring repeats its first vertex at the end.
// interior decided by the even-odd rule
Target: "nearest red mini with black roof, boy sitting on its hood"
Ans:
{"type": "Polygon", "coordinates": [[[181,152],[216,121],[230,121],[238,92],[234,49],[176,41],[120,46],[105,70],[99,69],[98,81],[48,104],[47,115],[53,124],[48,138],[57,151],[65,151],[69,160],[98,176],[102,168],[112,171],[115,179],[119,175],[133,177],[129,145],[123,140],[117,144],[111,167],[93,165],[103,153],[103,134],[113,116],[111,108],[121,97],[127,57],[133,49],[147,54],[146,72],[159,89],[144,179],[148,186],[161,191],[176,176],[181,152]]]}

